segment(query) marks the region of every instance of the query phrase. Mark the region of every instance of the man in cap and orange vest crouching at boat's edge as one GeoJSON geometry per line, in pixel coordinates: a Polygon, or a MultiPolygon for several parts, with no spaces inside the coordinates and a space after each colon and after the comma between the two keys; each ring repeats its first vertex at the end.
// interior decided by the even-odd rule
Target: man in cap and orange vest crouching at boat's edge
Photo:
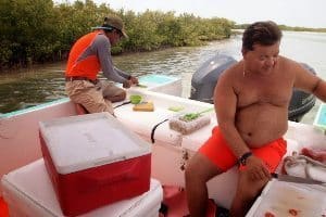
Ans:
{"type": "Polygon", "coordinates": [[[124,88],[137,85],[138,79],[113,66],[111,47],[127,38],[123,21],[110,15],[100,27],[79,38],[73,46],[65,71],[65,89],[71,100],[82,104],[89,113],[109,112],[114,114],[112,102],[123,101],[124,88]],[[98,80],[102,71],[110,80],[98,80]]]}

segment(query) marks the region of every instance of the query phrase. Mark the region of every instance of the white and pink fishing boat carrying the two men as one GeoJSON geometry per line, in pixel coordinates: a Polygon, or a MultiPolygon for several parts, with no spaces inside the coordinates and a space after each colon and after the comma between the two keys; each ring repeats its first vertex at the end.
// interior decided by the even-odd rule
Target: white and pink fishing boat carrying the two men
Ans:
{"type": "MultiPolygon", "coordinates": [[[[127,90],[125,102],[114,103],[114,113],[116,119],[127,127],[130,131],[138,135],[145,141],[151,143],[151,177],[162,186],[185,187],[184,169],[187,161],[193,155],[199,146],[210,137],[212,128],[217,125],[217,119],[213,110],[213,104],[181,98],[181,79],[150,75],[140,78],[141,87],[131,87],[127,90]],[[142,101],[151,102],[153,111],[137,112],[134,111],[134,104],[130,103],[130,95],[141,95],[142,101]],[[202,113],[209,117],[210,122],[205,126],[195,130],[191,133],[183,133],[174,130],[170,126],[170,120],[180,114],[202,113]]],[[[45,103],[26,110],[21,110],[0,116],[0,177],[3,177],[25,165],[42,158],[39,141],[39,123],[62,118],[67,116],[83,115],[83,112],[76,108],[70,99],[64,98],[50,103],[45,103]]],[[[290,122],[285,139],[288,143],[287,155],[299,152],[302,148],[323,148],[326,145],[324,129],[315,125],[305,125],[290,122]]],[[[278,171],[281,170],[279,165],[278,171]]],[[[218,205],[229,208],[231,199],[235,195],[237,168],[212,179],[209,183],[209,196],[218,205]]],[[[280,181],[274,180],[279,184],[280,181]]],[[[280,182],[283,183],[283,182],[280,182]]],[[[284,186],[274,187],[281,191],[284,186]]],[[[269,184],[271,186],[271,184],[269,184]]],[[[303,189],[310,188],[302,184],[303,189]]],[[[314,184],[313,184],[314,186],[314,184]]],[[[269,187],[271,188],[271,187],[269,187]]],[[[296,187],[297,188],[297,187],[296,187]]],[[[300,192],[301,187],[298,189],[300,192]]],[[[313,188],[310,192],[316,191],[317,199],[326,199],[326,190],[323,188],[313,188]],[[321,197],[322,196],[322,197],[321,197]]],[[[0,186],[0,192],[3,187],[0,186]]],[[[273,192],[273,191],[272,191],[273,192]]],[[[269,195],[265,191],[266,195],[269,195]]],[[[255,210],[266,207],[266,200],[262,194],[255,205],[249,212],[248,216],[260,216],[255,210]],[[260,204],[263,204],[262,206],[260,204]]],[[[304,195],[309,192],[304,192],[304,195]]],[[[2,194],[0,194],[1,196],[2,194]]],[[[3,196],[5,200],[5,196],[3,196]]],[[[311,199],[311,197],[309,197],[311,199]]],[[[3,199],[1,199],[3,201],[3,199]]],[[[326,202],[315,203],[318,215],[326,214],[326,202]]],[[[24,204],[21,204],[24,206],[24,204]]],[[[9,205],[9,209],[11,206],[9,205]]],[[[311,208],[311,207],[310,207],[311,208]]]]}

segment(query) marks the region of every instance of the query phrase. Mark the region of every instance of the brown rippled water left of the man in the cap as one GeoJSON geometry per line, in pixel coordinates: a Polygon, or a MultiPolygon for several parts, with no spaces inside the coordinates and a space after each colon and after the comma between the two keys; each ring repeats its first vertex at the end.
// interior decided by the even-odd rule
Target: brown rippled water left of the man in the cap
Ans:
{"type": "Polygon", "coordinates": [[[26,108],[64,97],[62,64],[0,76],[0,113],[26,108]]]}

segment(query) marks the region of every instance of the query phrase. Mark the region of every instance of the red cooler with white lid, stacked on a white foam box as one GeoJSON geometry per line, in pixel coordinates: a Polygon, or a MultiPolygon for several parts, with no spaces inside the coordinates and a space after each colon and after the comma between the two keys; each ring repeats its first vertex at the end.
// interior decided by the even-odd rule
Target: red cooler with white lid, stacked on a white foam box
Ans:
{"type": "Polygon", "coordinates": [[[41,122],[40,140],[64,215],[79,215],[150,188],[150,144],[109,113],[41,122]]]}

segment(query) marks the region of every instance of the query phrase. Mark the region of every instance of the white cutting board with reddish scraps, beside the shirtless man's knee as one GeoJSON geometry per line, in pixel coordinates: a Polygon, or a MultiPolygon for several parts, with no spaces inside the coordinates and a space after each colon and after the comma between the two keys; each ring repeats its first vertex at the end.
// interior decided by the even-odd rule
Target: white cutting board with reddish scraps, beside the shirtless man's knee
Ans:
{"type": "Polygon", "coordinates": [[[297,216],[322,217],[326,215],[326,189],[273,180],[266,186],[258,203],[252,215],[254,217],[264,217],[266,213],[275,217],[291,216],[290,209],[294,209],[297,216]]]}

